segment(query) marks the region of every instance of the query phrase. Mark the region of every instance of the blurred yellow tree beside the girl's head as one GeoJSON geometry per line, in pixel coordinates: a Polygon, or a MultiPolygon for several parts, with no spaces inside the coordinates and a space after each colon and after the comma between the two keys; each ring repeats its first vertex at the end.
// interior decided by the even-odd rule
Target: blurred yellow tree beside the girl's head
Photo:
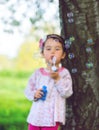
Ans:
{"type": "Polygon", "coordinates": [[[16,59],[16,69],[31,71],[39,66],[45,66],[40,56],[37,43],[25,41],[20,47],[19,54],[16,59]]]}

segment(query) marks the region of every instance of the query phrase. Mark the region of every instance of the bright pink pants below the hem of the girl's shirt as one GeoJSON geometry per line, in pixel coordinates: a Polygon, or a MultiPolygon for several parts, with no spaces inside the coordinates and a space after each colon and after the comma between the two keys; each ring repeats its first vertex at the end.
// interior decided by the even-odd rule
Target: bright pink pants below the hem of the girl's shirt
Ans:
{"type": "Polygon", "coordinates": [[[31,124],[28,125],[28,130],[58,130],[60,123],[56,123],[56,126],[53,127],[39,127],[33,126],[31,124]]]}

